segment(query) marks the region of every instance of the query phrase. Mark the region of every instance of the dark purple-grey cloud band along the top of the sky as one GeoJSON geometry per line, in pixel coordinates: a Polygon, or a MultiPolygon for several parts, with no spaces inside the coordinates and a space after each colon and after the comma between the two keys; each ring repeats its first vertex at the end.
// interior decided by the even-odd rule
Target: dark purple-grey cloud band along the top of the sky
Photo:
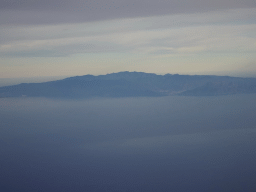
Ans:
{"type": "Polygon", "coordinates": [[[0,2],[0,25],[83,23],[255,7],[254,0],[8,0],[0,2]]]}

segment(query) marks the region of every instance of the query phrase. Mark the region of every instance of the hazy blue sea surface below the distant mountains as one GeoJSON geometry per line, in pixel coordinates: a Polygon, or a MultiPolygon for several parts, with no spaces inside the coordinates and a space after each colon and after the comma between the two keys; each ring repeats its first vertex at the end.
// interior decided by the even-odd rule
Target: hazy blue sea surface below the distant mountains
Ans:
{"type": "Polygon", "coordinates": [[[1,192],[256,191],[256,95],[0,99],[1,192]]]}

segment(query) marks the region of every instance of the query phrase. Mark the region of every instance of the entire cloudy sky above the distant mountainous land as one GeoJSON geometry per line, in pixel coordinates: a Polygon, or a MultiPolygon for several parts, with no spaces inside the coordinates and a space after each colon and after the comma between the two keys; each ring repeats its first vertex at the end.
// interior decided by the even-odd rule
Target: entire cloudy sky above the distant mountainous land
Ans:
{"type": "Polygon", "coordinates": [[[0,78],[256,77],[255,0],[1,0],[0,78]]]}

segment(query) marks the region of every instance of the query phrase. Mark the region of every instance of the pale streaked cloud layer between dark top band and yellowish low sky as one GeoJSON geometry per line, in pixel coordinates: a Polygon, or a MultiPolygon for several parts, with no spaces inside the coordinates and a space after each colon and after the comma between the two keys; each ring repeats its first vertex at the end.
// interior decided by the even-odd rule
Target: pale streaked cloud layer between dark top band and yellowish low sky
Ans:
{"type": "Polygon", "coordinates": [[[1,56],[256,51],[256,9],[1,29],[1,56]],[[240,23],[241,17],[245,23],[240,23]],[[208,18],[208,19],[207,19],[208,18]],[[236,20],[235,20],[236,19],[236,20]],[[234,22],[234,23],[232,23],[234,22]]]}

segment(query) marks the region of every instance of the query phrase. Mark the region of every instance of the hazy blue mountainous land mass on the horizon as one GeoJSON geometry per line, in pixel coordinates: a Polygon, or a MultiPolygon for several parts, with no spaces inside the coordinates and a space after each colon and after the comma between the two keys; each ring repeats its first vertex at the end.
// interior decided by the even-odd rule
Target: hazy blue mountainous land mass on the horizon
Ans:
{"type": "Polygon", "coordinates": [[[0,87],[0,97],[158,97],[256,93],[256,78],[119,72],[0,87]]]}

